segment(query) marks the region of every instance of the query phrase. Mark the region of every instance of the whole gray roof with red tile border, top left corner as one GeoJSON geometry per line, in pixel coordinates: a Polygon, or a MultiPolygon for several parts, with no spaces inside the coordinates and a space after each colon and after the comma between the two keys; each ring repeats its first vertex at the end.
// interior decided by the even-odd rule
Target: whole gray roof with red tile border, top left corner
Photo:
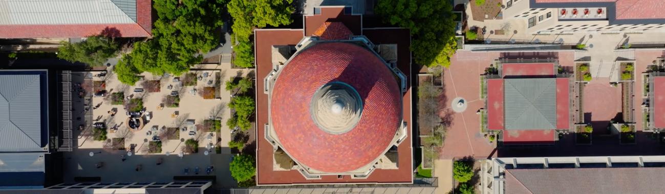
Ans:
{"type": "Polygon", "coordinates": [[[149,0],[0,1],[0,38],[148,37],[149,0]]]}

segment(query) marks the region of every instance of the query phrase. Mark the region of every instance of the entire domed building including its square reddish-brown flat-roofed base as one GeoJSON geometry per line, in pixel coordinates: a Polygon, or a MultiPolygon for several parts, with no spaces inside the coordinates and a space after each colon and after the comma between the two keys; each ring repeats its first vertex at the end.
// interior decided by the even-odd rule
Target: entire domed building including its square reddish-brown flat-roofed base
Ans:
{"type": "Polygon", "coordinates": [[[256,31],[258,185],[412,182],[408,44],[343,11],[256,31]]]}

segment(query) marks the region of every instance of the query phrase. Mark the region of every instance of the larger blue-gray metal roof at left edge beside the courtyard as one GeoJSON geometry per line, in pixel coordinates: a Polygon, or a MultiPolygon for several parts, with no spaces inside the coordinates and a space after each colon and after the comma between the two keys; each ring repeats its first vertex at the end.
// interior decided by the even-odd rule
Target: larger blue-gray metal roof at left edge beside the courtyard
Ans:
{"type": "Polygon", "coordinates": [[[43,152],[41,75],[0,74],[0,152],[43,152]]]}

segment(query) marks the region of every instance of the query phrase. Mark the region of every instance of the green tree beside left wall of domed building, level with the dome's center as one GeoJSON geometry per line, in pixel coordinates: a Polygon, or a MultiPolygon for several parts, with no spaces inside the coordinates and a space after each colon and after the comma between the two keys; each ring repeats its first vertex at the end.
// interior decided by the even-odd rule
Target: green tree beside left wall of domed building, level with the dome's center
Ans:
{"type": "Polygon", "coordinates": [[[242,130],[251,128],[251,121],[249,119],[254,113],[254,104],[254,99],[247,96],[239,96],[231,99],[229,107],[235,109],[235,117],[231,117],[226,122],[227,126],[229,128],[239,126],[242,130]]]}

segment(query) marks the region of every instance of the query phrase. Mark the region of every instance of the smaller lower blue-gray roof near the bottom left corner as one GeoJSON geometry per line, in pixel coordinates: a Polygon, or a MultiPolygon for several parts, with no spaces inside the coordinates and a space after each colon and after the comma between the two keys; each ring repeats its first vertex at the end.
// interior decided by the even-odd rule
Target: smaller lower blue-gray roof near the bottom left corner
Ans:
{"type": "Polygon", "coordinates": [[[44,171],[44,153],[0,154],[0,173],[44,171]]]}

